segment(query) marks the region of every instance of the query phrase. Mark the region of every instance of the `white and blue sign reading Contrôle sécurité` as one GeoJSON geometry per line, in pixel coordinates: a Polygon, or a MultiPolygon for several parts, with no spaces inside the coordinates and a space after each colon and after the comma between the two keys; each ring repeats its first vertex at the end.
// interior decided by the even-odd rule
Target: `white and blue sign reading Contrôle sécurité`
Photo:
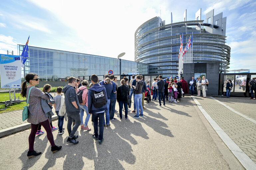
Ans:
{"type": "Polygon", "coordinates": [[[21,88],[19,55],[0,54],[1,88],[21,88]]]}

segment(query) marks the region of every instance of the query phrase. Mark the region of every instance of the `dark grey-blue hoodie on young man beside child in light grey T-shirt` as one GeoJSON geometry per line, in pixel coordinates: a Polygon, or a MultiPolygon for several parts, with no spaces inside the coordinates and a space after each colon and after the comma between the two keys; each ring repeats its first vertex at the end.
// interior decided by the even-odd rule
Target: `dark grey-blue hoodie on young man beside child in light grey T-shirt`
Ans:
{"type": "Polygon", "coordinates": [[[74,87],[71,85],[66,85],[63,89],[62,92],[64,93],[65,96],[65,105],[66,105],[66,111],[68,112],[80,112],[80,106],[76,94],[76,90],[74,87]],[[77,103],[78,109],[75,108],[75,106],[72,104],[72,102],[77,103]]]}

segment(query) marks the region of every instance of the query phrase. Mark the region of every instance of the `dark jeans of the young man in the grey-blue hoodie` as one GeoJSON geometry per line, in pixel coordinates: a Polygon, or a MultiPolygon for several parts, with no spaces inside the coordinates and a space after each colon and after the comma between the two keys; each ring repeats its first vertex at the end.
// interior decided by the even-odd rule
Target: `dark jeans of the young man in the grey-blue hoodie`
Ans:
{"type": "MultiPolygon", "coordinates": [[[[67,112],[67,110],[66,110],[66,112],[67,112]]],[[[69,137],[72,138],[75,135],[78,127],[81,124],[80,113],[79,112],[67,112],[67,115],[68,115],[67,129],[68,129],[68,132],[69,132],[69,137]],[[73,119],[75,120],[76,124],[73,127],[73,129],[71,130],[71,126],[73,124],[73,119]]]]}

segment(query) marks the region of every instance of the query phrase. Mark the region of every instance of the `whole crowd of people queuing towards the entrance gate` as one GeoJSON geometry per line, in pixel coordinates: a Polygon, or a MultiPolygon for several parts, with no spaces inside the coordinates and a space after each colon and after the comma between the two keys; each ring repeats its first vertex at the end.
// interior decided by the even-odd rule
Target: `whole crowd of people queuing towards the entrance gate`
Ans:
{"type": "Polygon", "coordinates": [[[44,134],[41,130],[43,126],[47,133],[47,138],[51,143],[51,150],[53,153],[59,151],[62,146],[55,144],[52,131],[59,129],[58,134],[63,134],[65,128],[63,128],[64,119],[67,121],[68,138],[67,142],[77,144],[78,135],[75,135],[79,126],[84,130],[91,130],[88,126],[88,122],[92,115],[92,121],[94,126],[93,138],[102,144],[104,141],[103,132],[104,127],[111,126],[110,121],[115,121],[115,112],[119,112],[119,119],[123,120],[123,110],[125,112],[125,120],[128,119],[128,112],[131,111],[131,99],[133,94],[133,110],[132,113],[136,114],[133,117],[139,119],[143,116],[144,98],[148,95],[152,100],[159,102],[159,106],[165,106],[165,101],[170,103],[177,103],[181,101],[182,96],[188,93],[188,89],[191,90],[192,95],[194,89],[197,89],[197,94],[200,96],[200,90],[202,90],[203,96],[206,97],[207,79],[203,76],[203,80],[200,77],[197,81],[192,77],[192,80],[188,83],[181,77],[181,80],[174,77],[162,79],[162,75],[154,78],[152,87],[150,88],[150,82],[147,83],[143,80],[143,76],[136,74],[132,75],[132,79],[128,83],[128,78],[124,77],[120,86],[117,83],[117,77],[112,74],[106,74],[104,79],[99,82],[97,75],[91,76],[91,84],[87,80],[82,82],[75,78],[69,77],[68,85],[63,89],[58,87],[56,89],[57,96],[53,97],[49,92],[51,85],[46,84],[41,91],[38,88],[33,88],[39,84],[38,75],[35,73],[29,73],[25,77],[25,82],[22,84],[21,95],[23,97],[29,97],[29,117],[27,122],[31,123],[31,133],[29,135],[29,151],[28,158],[37,156],[41,152],[34,150],[34,141],[36,135],[44,134]],[[29,85],[27,86],[27,83],[29,85]],[[129,93],[130,86],[130,93],[129,93]],[[31,93],[29,93],[31,89],[31,93]],[[152,92],[150,95],[150,91],[152,92]],[[65,98],[62,96],[64,93],[65,98]],[[145,96],[145,93],[147,94],[145,96]],[[116,102],[118,102],[119,110],[116,110],[116,102]],[[52,125],[51,117],[52,108],[55,108],[55,113],[58,116],[58,127],[52,125]],[[84,115],[86,113],[85,121],[84,115]],[[73,126],[72,126],[73,125],[73,126]],[[99,127],[99,128],[98,128],[99,127]]]}

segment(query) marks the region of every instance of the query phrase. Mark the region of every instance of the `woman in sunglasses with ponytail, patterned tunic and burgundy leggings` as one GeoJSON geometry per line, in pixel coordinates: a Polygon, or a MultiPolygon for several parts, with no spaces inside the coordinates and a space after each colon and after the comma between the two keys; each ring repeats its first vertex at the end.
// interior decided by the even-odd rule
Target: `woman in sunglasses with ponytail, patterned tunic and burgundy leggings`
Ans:
{"type": "Polygon", "coordinates": [[[41,106],[41,98],[45,100],[49,100],[49,96],[42,92],[39,88],[35,88],[35,85],[39,84],[38,75],[35,73],[28,73],[25,77],[25,80],[22,83],[21,96],[28,98],[29,89],[31,89],[29,96],[29,115],[27,122],[31,123],[31,132],[28,138],[29,141],[29,150],[28,150],[28,158],[32,158],[34,156],[40,155],[42,152],[37,152],[34,150],[34,142],[35,136],[38,129],[39,124],[41,124],[47,133],[47,138],[51,143],[51,150],[53,153],[59,151],[62,146],[57,146],[54,143],[52,128],[49,122],[49,119],[45,116],[45,113],[41,106]],[[27,83],[29,85],[27,86],[27,83]]]}

